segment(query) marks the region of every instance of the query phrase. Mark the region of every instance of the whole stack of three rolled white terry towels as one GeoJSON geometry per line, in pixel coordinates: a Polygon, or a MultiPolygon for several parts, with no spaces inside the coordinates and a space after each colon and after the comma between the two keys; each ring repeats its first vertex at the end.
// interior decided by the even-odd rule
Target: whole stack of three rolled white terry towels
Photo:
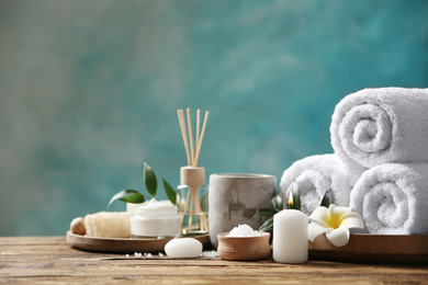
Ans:
{"type": "Polygon", "coordinates": [[[283,198],[294,180],[306,213],[331,190],[334,203],[357,210],[370,233],[428,233],[428,89],[350,94],[337,104],[330,134],[334,155],[284,171],[283,198]]]}

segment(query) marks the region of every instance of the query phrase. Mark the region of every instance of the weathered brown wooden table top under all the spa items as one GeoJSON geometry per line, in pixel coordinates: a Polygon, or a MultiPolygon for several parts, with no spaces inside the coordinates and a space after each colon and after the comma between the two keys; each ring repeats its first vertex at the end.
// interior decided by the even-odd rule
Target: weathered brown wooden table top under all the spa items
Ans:
{"type": "Polygon", "coordinates": [[[0,237],[0,284],[428,284],[428,265],[126,258],[74,249],[65,237],[0,237]]]}

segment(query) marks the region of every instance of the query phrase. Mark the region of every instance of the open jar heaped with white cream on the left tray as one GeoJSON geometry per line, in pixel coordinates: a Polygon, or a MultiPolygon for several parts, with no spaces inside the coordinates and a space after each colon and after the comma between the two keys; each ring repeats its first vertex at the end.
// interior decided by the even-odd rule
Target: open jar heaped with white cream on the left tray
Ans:
{"type": "Polygon", "coordinates": [[[180,233],[181,215],[170,201],[143,203],[134,208],[131,216],[132,238],[168,238],[180,233]]]}

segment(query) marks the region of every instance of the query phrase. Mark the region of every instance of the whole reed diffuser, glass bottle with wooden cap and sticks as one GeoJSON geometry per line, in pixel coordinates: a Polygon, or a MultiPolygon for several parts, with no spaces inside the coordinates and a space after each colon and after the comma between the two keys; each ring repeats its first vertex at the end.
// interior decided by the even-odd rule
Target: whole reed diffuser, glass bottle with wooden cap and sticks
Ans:
{"type": "Polygon", "coordinates": [[[205,169],[198,167],[198,160],[210,112],[205,112],[201,129],[201,111],[198,110],[195,138],[193,138],[190,109],[187,109],[189,132],[185,126],[184,111],[178,110],[177,113],[188,158],[188,166],[180,169],[180,185],[177,191],[177,205],[182,215],[181,233],[182,236],[204,235],[209,232],[209,187],[205,184],[205,169]]]}

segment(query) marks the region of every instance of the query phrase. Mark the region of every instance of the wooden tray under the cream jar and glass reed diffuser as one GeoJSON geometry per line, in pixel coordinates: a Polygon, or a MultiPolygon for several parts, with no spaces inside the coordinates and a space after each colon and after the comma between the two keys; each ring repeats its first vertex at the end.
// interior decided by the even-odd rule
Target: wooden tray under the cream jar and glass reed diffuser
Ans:
{"type": "MultiPolygon", "coordinates": [[[[204,248],[211,247],[210,235],[192,237],[202,242],[204,248]]],[[[80,236],[67,231],[67,242],[71,247],[95,251],[95,252],[111,252],[111,253],[134,253],[134,252],[164,252],[165,244],[171,239],[110,239],[110,238],[91,238],[80,236]]]]}

